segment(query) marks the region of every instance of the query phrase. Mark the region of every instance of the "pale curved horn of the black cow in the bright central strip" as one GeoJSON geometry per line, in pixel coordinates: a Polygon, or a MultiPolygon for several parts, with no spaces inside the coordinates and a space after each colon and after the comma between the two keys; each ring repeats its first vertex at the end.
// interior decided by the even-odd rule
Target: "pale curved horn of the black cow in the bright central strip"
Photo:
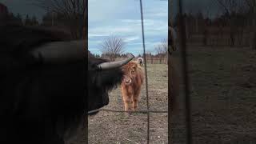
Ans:
{"type": "Polygon", "coordinates": [[[126,65],[126,63],[130,62],[134,58],[134,55],[129,53],[128,57],[129,58],[124,59],[122,61],[118,61],[118,62],[103,62],[101,64],[98,64],[98,69],[99,70],[109,70],[109,69],[114,69],[117,67],[124,66],[124,65],[126,65]]]}

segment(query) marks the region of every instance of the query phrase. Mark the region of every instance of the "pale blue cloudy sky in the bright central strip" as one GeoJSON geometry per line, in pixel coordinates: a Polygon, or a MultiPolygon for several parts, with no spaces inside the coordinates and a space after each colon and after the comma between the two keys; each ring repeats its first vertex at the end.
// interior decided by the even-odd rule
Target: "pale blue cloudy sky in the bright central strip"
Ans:
{"type": "MultiPolygon", "coordinates": [[[[154,53],[154,45],[167,38],[168,2],[142,1],[146,52],[154,53]]],[[[115,35],[126,42],[125,53],[142,54],[142,25],[138,0],[88,1],[89,50],[101,54],[101,42],[115,35]]]]}

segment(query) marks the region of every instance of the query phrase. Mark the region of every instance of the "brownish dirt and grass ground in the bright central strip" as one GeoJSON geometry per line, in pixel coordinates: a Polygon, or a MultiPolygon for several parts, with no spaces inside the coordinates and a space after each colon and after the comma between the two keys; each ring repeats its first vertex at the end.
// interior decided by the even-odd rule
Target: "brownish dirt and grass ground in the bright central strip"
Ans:
{"type": "MultiPolygon", "coordinates": [[[[144,67],[142,67],[144,69],[144,67]]],[[[168,110],[168,74],[165,64],[148,64],[150,110],[168,110]]],[[[110,110],[123,110],[120,87],[110,93],[110,110]]],[[[138,110],[146,110],[146,86],[142,86],[138,110]]],[[[146,143],[147,115],[102,111],[88,118],[88,142],[110,144],[146,143]]],[[[167,114],[150,114],[150,143],[167,143],[167,114]]]]}

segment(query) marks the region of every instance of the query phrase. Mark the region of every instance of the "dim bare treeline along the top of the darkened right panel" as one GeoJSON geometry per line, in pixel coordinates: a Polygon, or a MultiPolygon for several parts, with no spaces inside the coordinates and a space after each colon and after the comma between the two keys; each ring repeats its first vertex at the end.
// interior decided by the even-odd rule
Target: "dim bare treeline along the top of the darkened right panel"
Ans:
{"type": "MultiPolygon", "coordinates": [[[[185,13],[186,39],[203,46],[250,46],[256,50],[255,0],[213,0],[220,8],[214,17],[207,10],[185,13]]],[[[177,14],[174,26],[178,25],[177,14]]]]}

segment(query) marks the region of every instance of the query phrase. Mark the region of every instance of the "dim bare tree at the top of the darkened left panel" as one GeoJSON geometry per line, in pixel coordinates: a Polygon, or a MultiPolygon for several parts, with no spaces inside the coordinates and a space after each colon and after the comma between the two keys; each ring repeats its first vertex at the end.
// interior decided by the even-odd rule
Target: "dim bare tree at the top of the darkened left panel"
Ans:
{"type": "Polygon", "coordinates": [[[73,37],[82,38],[83,27],[86,25],[87,0],[35,0],[31,2],[47,12],[63,14],[73,37]]]}

